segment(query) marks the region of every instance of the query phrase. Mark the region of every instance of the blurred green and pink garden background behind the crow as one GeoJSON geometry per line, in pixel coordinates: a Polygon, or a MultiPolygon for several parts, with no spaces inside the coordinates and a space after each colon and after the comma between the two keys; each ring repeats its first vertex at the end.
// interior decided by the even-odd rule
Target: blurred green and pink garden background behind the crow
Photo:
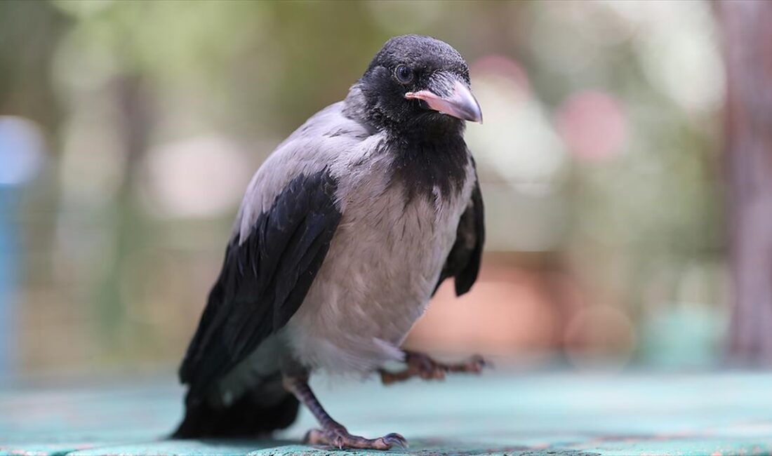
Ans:
{"type": "Polygon", "coordinates": [[[0,2],[0,376],[171,375],[252,173],[408,32],[469,62],[489,233],[409,345],[768,364],[769,23],[767,2],[0,2]]]}

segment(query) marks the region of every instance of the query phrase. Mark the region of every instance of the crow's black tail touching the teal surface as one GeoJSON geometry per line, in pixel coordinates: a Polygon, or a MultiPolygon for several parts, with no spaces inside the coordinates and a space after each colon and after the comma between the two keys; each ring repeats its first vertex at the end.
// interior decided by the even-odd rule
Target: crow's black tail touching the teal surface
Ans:
{"type": "Polygon", "coordinates": [[[292,394],[269,407],[258,404],[251,394],[243,395],[229,407],[215,408],[206,401],[188,404],[185,419],[171,437],[258,437],[292,424],[299,405],[292,394]]]}

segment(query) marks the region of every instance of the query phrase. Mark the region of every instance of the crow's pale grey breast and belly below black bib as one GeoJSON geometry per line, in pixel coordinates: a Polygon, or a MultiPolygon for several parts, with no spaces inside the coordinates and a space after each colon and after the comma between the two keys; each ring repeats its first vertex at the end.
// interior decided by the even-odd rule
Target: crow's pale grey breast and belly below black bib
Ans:
{"type": "MultiPolygon", "coordinates": [[[[376,154],[377,144],[371,144],[376,154]]],[[[361,156],[361,155],[360,155],[361,156]]],[[[426,309],[469,201],[469,159],[458,191],[406,198],[392,157],[352,161],[340,174],[343,211],[330,251],[287,335],[296,358],[330,372],[368,373],[401,358],[426,309]]]]}

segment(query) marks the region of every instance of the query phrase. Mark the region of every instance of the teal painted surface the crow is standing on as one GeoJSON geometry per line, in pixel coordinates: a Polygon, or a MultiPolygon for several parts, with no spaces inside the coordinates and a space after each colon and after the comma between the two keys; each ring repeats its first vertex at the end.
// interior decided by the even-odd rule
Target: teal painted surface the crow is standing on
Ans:
{"type": "MultiPolygon", "coordinates": [[[[298,442],[164,441],[181,414],[173,380],[0,390],[0,454],[346,454],[298,442]]],[[[320,380],[350,431],[399,432],[388,454],[772,454],[772,373],[486,373],[383,387],[320,380]]],[[[378,453],[378,452],[373,452],[378,453]]]]}

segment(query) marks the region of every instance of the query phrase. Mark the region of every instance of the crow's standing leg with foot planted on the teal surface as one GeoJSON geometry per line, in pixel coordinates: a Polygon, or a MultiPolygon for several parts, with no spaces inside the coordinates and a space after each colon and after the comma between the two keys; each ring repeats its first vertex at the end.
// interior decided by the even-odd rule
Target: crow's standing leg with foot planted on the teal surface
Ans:
{"type": "Polygon", "coordinates": [[[305,441],[312,445],[331,445],[337,448],[361,448],[388,450],[394,445],[406,448],[408,441],[400,434],[387,434],[374,439],[351,435],[343,424],[338,423],[324,410],[316,395],[308,386],[308,377],[284,377],[284,387],[311,410],[321,429],[312,429],[305,441]]]}

